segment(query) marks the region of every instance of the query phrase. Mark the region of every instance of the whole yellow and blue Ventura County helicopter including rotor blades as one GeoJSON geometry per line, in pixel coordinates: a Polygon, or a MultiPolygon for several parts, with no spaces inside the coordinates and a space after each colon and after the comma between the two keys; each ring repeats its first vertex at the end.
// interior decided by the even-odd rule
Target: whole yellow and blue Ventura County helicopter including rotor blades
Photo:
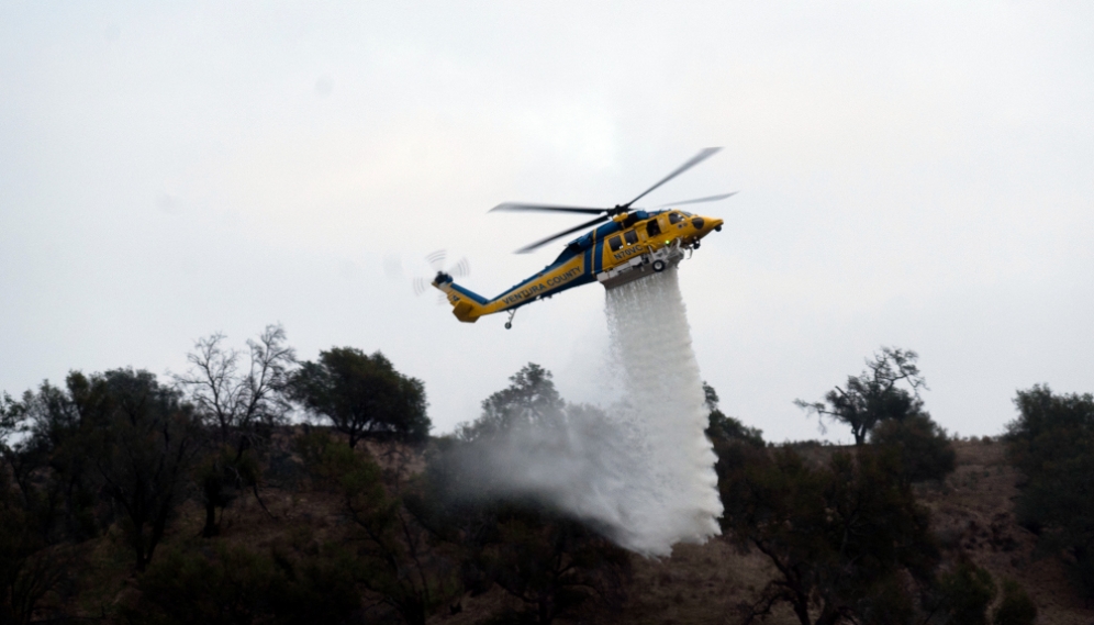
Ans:
{"type": "Polygon", "coordinates": [[[453,276],[445,271],[437,271],[432,284],[445,293],[453,305],[453,314],[459,321],[475,323],[480,316],[507,312],[505,328],[509,330],[513,327],[513,316],[518,308],[550,298],[567,289],[591,282],[600,282],[605,289],[613,289],[676,267],[684,258],[685,250],[690,256],[691,252],[699,249],[704,236],[712,232],[721,232],[723,221],[665,207],[716,202],[736,192],[655,207],[663,210],[632,207],[654,189],[706,160],[721,149],[721,147],[704,148],[634,200],[610,209],[514,202],[498,204],[489,212],[537,211],[598,215],[593,220],[526,245],[517,249],[516,254],[527,254],[568,234],[590,226],[596,227],[567,243],[558,258],[542,271],[517,282],[492,300],[457,284],[453,276]]]}

